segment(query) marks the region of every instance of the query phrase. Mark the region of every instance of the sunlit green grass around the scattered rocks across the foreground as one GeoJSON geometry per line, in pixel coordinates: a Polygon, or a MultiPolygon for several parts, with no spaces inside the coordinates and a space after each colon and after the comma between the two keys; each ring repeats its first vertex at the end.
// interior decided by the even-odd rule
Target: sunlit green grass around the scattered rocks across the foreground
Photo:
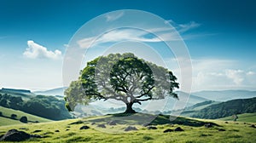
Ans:
{"type": "Polygon", "coordinates": [[[9,129],[23,130],[29,134],[39,134],[42,139],[31,139],[26,142],[256,142],[256,129],[250,127],[252,123],[195,120],[193,118],[178,117],[170,123],[167,117],[160,116],[152,124],[157,129],[147,129],[132,120],[119,120],[117,125],[108,125],[110,120],[117,120],[119,116],[108,115],[102,117],[87,117],[83,119],[69,119],[49,123],[28,123],[0,127],[0,135],[9,129]],[[95,124],[94,124],[95,123],[95,124]],[[97,127],[105,123],[106,129],[97,127]],[[184,125],[183,125],[184,123],[184,125]],[[205,128],[201,123],[216,123],[212,128],[205,128]],[[93,125],[92,125],[93,124],[93,125]],[[136,127],[137,131],[124,132],[128,124],[136,127]],[[217,125],[218,124],[218,125],[217,125]],[[80,130],[83,125],[90,129],[80,130]],[[200,125],[200,126],[199,126],[200,125]],[[163,133],[166,129],[181,127],[183,132],[163,133]],[[225,131],[219,131],[224,129],[225,131]],[[33,133],[35,130],[41,130],[33,133]],[[58,131],[57,131],[58,130],[58,131]]]}

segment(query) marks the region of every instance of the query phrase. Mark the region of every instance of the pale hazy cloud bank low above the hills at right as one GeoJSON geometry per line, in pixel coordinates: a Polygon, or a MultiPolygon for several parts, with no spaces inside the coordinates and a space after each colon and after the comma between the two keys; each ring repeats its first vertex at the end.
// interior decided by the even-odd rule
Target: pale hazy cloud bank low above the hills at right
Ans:
{"type": "Polygon", "coordinates": [[[255,76],[234,69],[223,69],[219,72],[197,72],[193,77],[193,87],[196,90],[214,89],[253,89],[256,84],[255,76]]]}

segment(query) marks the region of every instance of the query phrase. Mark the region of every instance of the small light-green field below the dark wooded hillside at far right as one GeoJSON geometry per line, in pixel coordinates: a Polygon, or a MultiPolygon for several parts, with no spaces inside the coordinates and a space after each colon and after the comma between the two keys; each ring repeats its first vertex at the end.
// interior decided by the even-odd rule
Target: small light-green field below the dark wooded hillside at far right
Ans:
{"type": "MultiPolygon", "coordinates": [[[[240,122],[256,123],[256,113],[238,114],[237,117],[238,117],[237,121],[240,121],[240,122]]],[[[219,118],[219,120],[222,120],[222,121],[233,121],[233,119],[234,118],[232,116],[219,118]]]]}

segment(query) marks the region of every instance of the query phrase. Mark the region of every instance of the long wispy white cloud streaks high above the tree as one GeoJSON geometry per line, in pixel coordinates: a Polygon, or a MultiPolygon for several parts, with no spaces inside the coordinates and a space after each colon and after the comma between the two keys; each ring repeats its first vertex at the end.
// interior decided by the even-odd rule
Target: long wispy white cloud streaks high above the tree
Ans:
{"type": "MultiPolygon", "coordinates": [[[[122,14],[118,14],[115,16],[108,15],[107,20],[116,20],[121,15],[122,14]]],[[[173,21],[171,20],[166,20],[166,22],[173,23],[173,21]]],[[[184,33],[198,26],[200,26],[200,24],[196,23],[195,21],[191,21],[187,24],[180,24],[180,25],[175,24],[174,28],[179,33],[184,33]]],[[[189,37],[193,37],[193,36],[189,35],[189,37]]],[[[176,32],[174,32],[172,27],[169,27],[169,28],[159,27],[154,29],[145,29],[145,31],[126,28],[126,29],[115,29],[113,31],[109,31],[104,35],[102,35],[102,37],[87,37],[79,40],[78,43],[80,48],[87,49],[90,47],[91,44],[98,45],[100,43],[114,43],[114,42],[125,41],[125,40],[134,40],[134,41],[146,42],[146,43],[159,43],[159,42],[162,42],[163,40],[177,41],[180,39],[181,38],[177,35],[176,32]],[[155,37],[152,33],[158,35],[161,39],[159,37],[155,37]]]]}

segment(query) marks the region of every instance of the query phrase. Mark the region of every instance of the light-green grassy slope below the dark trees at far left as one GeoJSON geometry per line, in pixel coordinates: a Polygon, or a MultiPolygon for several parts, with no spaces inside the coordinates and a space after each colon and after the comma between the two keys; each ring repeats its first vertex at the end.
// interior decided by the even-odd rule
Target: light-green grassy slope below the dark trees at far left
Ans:
{"type": "Polygon", "coordinates": [[[0,121],[1,121],[0,126],[10,125],[10,124],[20,124],[19,119],[22,116],[26,116],[27,120],[32,121],[32,122],[38,121],[39,123],[44,123],[44,122],[51,121],[51,120],[46,119],[44,117],[37,117],[37,116],[31,115],[31,114],[28,114],[26,112],[20,112],[20,111],[17,111],[17,110],[5,108],[3,106],[0,106],[0,112],[2,112],[3,116],[4,116],[4,117],[0,117],[0,121]],[[17,120],[7,118],[7,117],[10,117],[11,114],[16,114],[17,115],[17,117],[16,117],[17,120]]]}

